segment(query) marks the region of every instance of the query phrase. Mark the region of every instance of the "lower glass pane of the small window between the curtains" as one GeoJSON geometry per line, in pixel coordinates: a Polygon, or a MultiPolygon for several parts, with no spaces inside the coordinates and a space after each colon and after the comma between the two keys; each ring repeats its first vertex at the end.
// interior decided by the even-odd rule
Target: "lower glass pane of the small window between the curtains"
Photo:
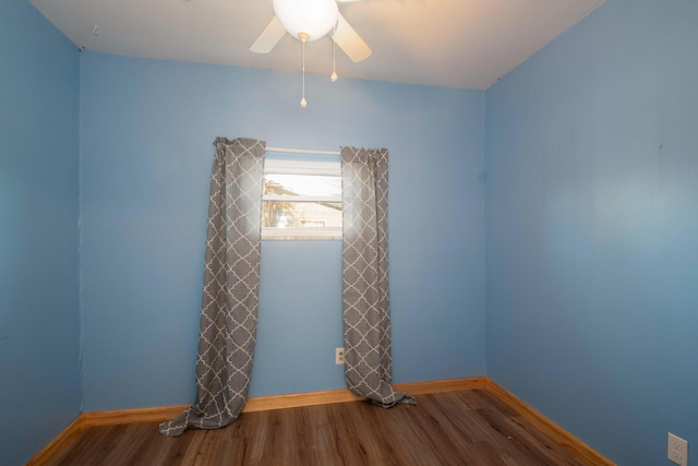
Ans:
{"type": "Polygon", "coordinates": [[[341,203],[264,201],[262,226],[275,228],[341,228],[341,203]]]}

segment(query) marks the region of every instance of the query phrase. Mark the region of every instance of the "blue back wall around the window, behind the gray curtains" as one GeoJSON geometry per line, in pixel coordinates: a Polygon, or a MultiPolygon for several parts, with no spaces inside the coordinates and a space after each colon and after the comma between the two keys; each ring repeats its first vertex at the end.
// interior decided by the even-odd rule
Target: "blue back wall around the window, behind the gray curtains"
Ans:
{"type": "MultiPolygon", "coordinates": [[[[482,92],[84,52],[85,410],[194,396],[213,141],[390,151],[396,382],[484,366],[482,92]]],[[[262,248],[251,396],[344,387],[339,241],[262,248]]]]}

